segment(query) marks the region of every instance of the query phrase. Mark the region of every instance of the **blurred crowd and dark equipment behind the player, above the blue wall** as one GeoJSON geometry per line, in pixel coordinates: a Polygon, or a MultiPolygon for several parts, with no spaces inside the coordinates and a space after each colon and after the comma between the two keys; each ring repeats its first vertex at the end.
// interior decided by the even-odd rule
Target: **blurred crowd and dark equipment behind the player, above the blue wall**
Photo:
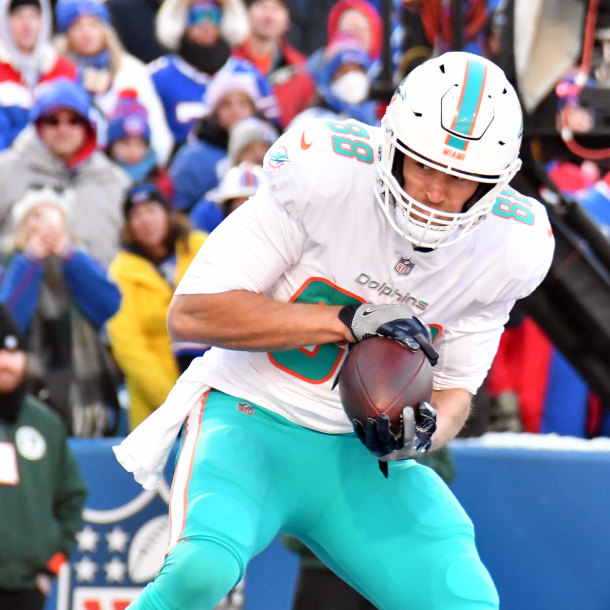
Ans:
{"type": "MultiPolygon", "coordinates": [[[[167,307],[278,135],[310,117],[379,124],[401,79],[450,49],[515,82],[516,186],[565,225],[580,277],[608,282],[606,4],[2,0],[0,301],[26,337],[30,393],[70,436],[134,428],[207,349],[171,343],[167,307]]],[[[462,436],[608,435],[606,346],[583,347],[606,330],[590,331],[590,286],[568,295],[555,271],[515,307],[462,436]]]]}

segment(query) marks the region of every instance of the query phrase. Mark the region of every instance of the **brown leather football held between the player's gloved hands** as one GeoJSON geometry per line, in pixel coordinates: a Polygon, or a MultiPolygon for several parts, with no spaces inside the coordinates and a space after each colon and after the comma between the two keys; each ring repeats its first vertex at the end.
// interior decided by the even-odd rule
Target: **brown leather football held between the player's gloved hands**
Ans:
{"type": "Polygon", "coordinates": [[[403,408],[417,417],[420,401],[432,398],[432,365],[422,350],[411,351],[388,337],[353,345],[339,372],[339,397],[353,420],[366,422],[386,413],[399,425],[403,408]]]}

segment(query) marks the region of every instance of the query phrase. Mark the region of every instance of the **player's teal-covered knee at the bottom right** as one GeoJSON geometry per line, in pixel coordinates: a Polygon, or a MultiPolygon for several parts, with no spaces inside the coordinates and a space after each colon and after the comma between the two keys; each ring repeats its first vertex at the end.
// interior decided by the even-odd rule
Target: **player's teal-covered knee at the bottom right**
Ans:
{"type": "Polygon", "coordinates": [[[500,604],[492,578],[477,556],[461,555],[453,559],[447,565],[445,585],[449,599],[442,602],[443,608],[497,610],[500,604]]]}

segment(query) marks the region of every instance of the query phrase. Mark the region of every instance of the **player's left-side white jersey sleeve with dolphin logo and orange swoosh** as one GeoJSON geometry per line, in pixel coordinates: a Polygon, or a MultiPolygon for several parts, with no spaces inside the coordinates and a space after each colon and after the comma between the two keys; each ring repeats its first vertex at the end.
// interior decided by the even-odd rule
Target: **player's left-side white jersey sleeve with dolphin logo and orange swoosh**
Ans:
{"type": "Polygon", "coordinates": [[[298,262],[307,240],[339,226],[345,208],[337,203],[359,163],[336,154],[332,137],[325,121],[312,120],[278,138],[256,195],[210,234],[176,294],[265,292],[298,262]]]}

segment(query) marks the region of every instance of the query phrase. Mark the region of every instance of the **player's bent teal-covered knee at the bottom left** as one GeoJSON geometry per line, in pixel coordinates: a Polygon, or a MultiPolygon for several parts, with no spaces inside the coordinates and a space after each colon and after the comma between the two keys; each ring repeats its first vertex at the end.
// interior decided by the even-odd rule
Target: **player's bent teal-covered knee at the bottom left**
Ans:
{"type": "Polygon", "coordinates": [[[171,549],[157,581],[163,597],[171,591],[171,607],[211,609],[241,576],[242,565],[228,548],[212,540],[190,539],[171,549]],[[163,587],[164,576],[170,576],[169,587],[163,587]]]}

